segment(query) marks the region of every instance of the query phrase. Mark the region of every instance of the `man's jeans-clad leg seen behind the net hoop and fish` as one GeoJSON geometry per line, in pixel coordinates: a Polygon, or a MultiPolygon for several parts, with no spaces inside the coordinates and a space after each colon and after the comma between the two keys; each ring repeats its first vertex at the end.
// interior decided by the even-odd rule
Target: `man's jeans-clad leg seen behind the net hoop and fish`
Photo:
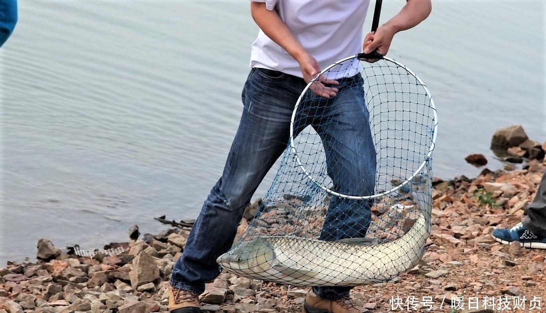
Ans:
{"type": "MultiPolygon", "coordinates": [[[[313,121],[321,135],[328,175],[334,191],[349,196],[373,194],[376,179],[376,151],[365,105],[363,81],[343,79],[338,95],[313,121]]],[[[371,221],[370,200],[334,196],[329,204],[320,239],[363,238],[371,221]]],[[[318,297],[339,300],[349,296],[351,287],[314,287],[318,297]]]]}

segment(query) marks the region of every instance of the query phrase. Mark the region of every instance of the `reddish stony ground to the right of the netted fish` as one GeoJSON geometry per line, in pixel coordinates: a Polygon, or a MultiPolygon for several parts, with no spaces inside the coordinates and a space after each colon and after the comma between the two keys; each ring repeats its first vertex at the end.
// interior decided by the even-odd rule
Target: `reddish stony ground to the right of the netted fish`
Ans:
{"type": "Polygon", "coordinates": [[[355,288],[355,297],[373,312],[546,311],[546,251],[500,244],[491,236],[495,227],[522,220],[544,168],[531,162],[523,170],[485,170],[474,180],[436,184],[422,263],[395,283],[355,288]],[[503,192],[503,183],[515,188],[503,192]]]}

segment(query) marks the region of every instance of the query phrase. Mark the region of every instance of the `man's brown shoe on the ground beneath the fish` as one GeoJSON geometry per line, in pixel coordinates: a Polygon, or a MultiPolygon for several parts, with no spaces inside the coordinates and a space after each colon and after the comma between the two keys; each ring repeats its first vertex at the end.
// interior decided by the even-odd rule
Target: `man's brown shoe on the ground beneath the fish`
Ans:
{"type": "Polygon", "coordinates": [[[304,309],[307,313],[371,313],[367,309],[359,308],[351,297],[340,300],[322,299],[312,288],[305,298],[304,309]]]}

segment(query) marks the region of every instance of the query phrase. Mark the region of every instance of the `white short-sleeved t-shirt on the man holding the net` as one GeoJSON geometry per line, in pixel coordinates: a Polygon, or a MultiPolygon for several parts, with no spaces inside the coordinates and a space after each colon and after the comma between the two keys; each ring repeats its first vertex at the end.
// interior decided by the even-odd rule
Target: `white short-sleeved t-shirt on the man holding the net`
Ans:
{"type": "MultiPolygon", "coordinates": [[[[362,52],[363,25],[370,0],[251,1],[265,2],[268,10],[277,10],[296,40],[316,58],[321,70],[342,58],[362,52]]],[[[261,29],[252,43],[250,66],[302,77],[299,63],[261,29]]],[[[357,73],[358,70],[353,68],[341,76],[357,73]]]]}

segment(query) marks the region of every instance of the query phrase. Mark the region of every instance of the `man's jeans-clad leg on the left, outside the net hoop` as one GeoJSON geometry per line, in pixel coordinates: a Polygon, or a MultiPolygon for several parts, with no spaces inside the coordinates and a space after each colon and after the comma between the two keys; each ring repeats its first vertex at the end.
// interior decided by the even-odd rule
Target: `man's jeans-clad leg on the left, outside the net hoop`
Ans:
{"type": "Polygon", "coordinates": [[[233,244],[236,228],[258,185],[286,149],[290,117],[302,79],[252,69],[244,87],[244,112],[225,163],[176,262],[171,286],[203,293],[220,273],[216,259],[233,244]]]}

